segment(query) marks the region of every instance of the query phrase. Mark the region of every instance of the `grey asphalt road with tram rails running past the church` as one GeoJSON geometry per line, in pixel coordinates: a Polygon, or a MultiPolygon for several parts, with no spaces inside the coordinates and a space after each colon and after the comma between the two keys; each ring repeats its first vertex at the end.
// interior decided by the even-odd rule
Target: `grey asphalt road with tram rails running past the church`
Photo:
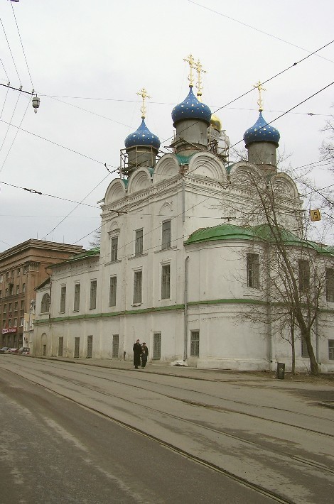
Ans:
{"type": "Polygon", "coordinates": [[[334,410],[303,389],[0,357],[1,504],[333,497],[334,410]]]}

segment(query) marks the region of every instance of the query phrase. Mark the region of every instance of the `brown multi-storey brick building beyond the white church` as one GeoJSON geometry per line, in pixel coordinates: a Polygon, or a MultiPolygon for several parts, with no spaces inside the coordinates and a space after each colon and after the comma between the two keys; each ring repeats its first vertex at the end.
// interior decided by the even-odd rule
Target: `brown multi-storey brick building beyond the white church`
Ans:
{"type": "Polygon", "coordinates": [[[31,324],[35,287],[48,278],[50,264],[80,252],[82,246],[30,239],[0,253],[0,346],[23,345],[23,331],[31,329],[25,325],[31,324]]]}

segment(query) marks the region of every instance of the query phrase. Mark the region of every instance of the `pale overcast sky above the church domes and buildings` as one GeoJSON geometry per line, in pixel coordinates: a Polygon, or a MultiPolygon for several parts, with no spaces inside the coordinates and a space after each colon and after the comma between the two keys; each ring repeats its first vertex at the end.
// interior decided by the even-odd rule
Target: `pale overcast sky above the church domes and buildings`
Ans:
{"type": "MultiPolygon", "coordinates": [[[[0,251],[30,238],[88,246],[114,176],[104,163],[119,166],[141,122],[136,92],[151,96],[146,124],[163,150],[173,105],[188,94],[184,57],[200,59],[203,102],[223,107],[235,144],[257,120],[257,91],[225,105],[330,43],[333,14],[332,0],[0,0],[0,84],[41,98],[34,114],[28,94],[0,86],[0,251]],[[64,201],[84,198],[91,206],[64,201]]],[[[266,121],[333,82],[334,43],[317,54],[264,84],[266,121]]],[[[318,162],[333,91],[274,122],[292,168],[318,162]]],[[[323,166],[312,176],[333,183],[323,166]]]]}

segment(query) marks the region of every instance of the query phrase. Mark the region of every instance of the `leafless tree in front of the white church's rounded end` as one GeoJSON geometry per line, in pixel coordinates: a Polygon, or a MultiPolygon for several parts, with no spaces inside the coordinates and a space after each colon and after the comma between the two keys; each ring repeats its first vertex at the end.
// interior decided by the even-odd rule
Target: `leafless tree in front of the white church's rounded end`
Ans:
{"type": "Polygon", "coordinates": [[[255,308],[248,317],[271,324],[276,333],[289,339],[293,368],[297,329],[306,344],[310,371],[318,375],[313,334],[324,299],[327,263],[333,263],[333,256],[307,239],[308,219],[301,202],[282,195],[276,172],[254,170],[254,165],[246,169],[245,163],[243,175],[249,205],[242,212],[239,209],[239,216],[244,226],[254,230],[249,252],[254,247],[263,251],[264,268],[257,288],[267,304],[265,316],[264,309],[255,308]],[[254,222],[258,224],[254,226],[254,222]]]}

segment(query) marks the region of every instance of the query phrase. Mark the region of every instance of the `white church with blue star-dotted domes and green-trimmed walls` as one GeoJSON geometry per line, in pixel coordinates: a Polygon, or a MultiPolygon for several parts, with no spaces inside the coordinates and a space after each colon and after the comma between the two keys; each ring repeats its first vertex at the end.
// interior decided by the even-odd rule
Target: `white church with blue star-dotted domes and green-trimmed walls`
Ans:
{"type": "MultiPolygon", "coordinates": [[[[151,361],[291,368],[291,344],[263,288],[270,275],[266,221],[250,182],[270,180],[279,192],[281,224],[298,248],[302,204],[296,184],[276,168],[279,131],[260,105],[244,133],[247,160],[229,164],[225,131],[190,78],[188,96],[172,111],[171,153],[159,157],[160,141],[145,122],[144,89],[142,97],[141,124],[125,139],[121,175],[102,200],[100,248],[54,265],[38,287],[32,353],[132,360],[139,339],[151,361]]],[[[324,270],[313,348],[320,371],[334,371],[334,255],[316,243],[310,250],[324,270]]],[[[306,371],[298,334],[295,344],[296,369],[306,371]]]]}

